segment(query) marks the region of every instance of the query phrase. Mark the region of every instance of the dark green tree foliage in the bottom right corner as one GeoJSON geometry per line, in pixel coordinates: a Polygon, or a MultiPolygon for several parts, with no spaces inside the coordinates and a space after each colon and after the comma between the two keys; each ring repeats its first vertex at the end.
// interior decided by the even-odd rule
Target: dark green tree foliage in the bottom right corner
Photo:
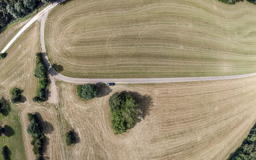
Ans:
{"type": "Polygon", "coordinates": [[[256,160],[256,125],[230,160],[256,160]]]}

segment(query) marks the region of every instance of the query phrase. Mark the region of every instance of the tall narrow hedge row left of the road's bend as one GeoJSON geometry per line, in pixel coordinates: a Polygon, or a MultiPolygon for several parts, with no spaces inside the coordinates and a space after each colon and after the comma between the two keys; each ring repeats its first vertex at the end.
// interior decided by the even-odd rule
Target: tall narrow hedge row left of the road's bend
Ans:
{"type": "Polygon", "coordinates": [[[37,95],[33,98],[34,102],[44,102],[45,101],[45,88],[47,85],[47,78],[46,78],[46,66],[44,65],[42,59],[42,53],[36,53],[36,67],[34,70],[34,76],[38,78],[38,89],[37,95]]]}

